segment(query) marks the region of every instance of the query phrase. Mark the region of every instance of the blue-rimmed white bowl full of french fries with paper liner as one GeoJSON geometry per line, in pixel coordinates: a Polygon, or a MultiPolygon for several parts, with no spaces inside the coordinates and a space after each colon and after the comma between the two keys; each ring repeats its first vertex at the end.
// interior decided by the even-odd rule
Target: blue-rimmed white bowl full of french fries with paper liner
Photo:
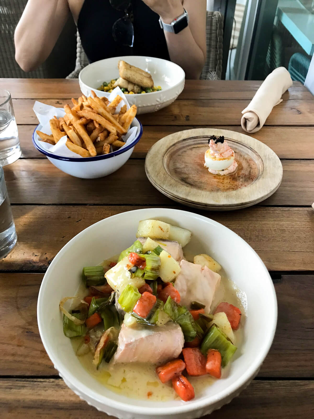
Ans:
{"type": "Polygon", "coordinates": [[[91,93],[72,98],[72,106],[63,109],[40,102],[34,106],[40,124],[33,132],[33,145],[54,166],[79,178],[113,173],[142,136],[136,106],[129,106],[119,88],[110,100],[91,93]]]}

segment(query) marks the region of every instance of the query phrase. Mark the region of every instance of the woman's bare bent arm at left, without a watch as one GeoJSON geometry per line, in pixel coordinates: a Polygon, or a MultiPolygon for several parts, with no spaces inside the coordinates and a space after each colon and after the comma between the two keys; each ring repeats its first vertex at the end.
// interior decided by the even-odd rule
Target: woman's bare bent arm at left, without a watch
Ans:
{"type": "Polygon", "coordinates": [[[35,70],[51,53],[69,16],[67,0],[28,0],[14,34],[15,60],[35,70]]]}

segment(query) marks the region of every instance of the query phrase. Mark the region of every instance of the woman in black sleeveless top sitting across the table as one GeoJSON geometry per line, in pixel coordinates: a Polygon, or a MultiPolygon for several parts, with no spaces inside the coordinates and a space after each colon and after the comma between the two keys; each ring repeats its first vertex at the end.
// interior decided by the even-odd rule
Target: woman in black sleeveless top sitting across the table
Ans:
{"type": "MultiPolygon", "coordinates": [[[[77,22],[82,46],[90,62],[121,55],[144,55],[171,60],[186,78],[199,78],[206,56],[206,0],[28,0],[15,30],[15,59],[30,71],[50,54],[69,12],[77,22]],[[125,16],[112,7],[131,8],[133,47],[115,41],[113,24],[125,16]],[[160,27],[188,13],[188,26],[178,33],[160,27]]],[[[184,15],[186,23],[186,15],[184,15]]],[[[178,23],[178,22],[177,22],[178,23]]],[[[177,25],[178,28],[178,25],[177,25]]],[[[60,57],[60,62],[66,57],[60,57]]]]}

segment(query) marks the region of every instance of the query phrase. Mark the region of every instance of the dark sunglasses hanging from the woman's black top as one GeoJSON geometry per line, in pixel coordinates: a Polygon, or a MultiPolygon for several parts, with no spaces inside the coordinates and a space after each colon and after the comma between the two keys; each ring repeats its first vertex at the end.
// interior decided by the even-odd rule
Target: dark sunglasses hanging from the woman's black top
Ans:
{"type": "Polygon", "coordinates": [[[109,0],[111,7],[124,10],[124,17],[118,19],[112,26],[113,39],[120,45],[133,47],[134,27],[133,9],[130,0],[109,0]]]}

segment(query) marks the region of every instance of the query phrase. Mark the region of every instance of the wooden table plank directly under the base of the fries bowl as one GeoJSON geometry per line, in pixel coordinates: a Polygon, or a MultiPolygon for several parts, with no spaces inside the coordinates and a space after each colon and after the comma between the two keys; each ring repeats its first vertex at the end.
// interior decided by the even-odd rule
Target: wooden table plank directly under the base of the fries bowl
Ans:
{"type": "MultiPolygon", "coordinates": [[[[314,160],[283,160],[282,163],[281,186],[261,204],[310,206],[314,196],[314,160]]],[[[6,166],[4,171],[13,204],[174,204],[150,184],[144,160],[128,160],[115,173],[98,179],[69,176],[47,159],[21,159],[6,166]]]]}

